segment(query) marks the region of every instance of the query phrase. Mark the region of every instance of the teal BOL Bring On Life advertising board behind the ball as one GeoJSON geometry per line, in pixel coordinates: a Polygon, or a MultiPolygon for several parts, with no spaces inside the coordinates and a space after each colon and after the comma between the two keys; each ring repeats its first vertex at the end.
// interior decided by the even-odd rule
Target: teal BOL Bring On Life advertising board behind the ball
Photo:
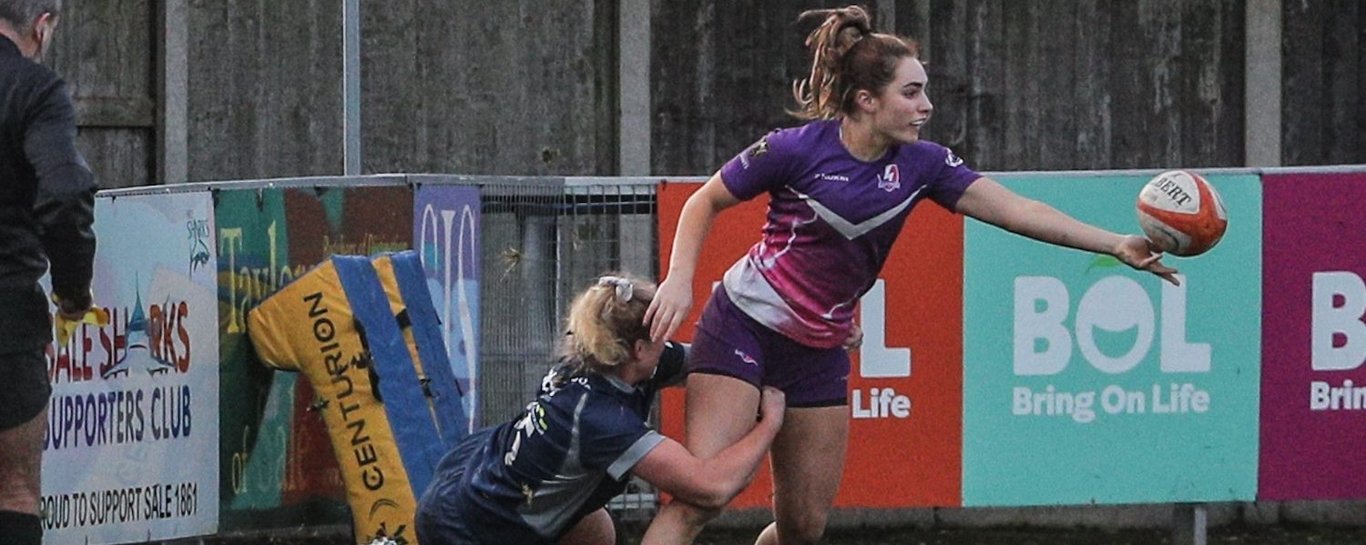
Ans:
{"type": "MultiPolygon", "coordinates": [[[[1138,232],[1147,175],[1001,176],[1138,232]]],[[[1165,258],[1182,285],[967,220],[963,504],[1251,500],[1257,490],[1261,186],[1208,176],[1223,242],[1165,258]]]]}

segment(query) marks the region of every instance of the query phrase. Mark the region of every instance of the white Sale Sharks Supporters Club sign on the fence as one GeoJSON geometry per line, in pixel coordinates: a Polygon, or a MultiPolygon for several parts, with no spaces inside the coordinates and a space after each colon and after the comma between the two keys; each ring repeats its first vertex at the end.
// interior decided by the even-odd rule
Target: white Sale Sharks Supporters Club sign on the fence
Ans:
{"type": "Polygon", "coordinates": [[[96,219],[92,288],[111,320],[48,350],[46,538],[212,533],[217,473],[195,463],[219,447],[212,199],[101,198],[96,219]]]}

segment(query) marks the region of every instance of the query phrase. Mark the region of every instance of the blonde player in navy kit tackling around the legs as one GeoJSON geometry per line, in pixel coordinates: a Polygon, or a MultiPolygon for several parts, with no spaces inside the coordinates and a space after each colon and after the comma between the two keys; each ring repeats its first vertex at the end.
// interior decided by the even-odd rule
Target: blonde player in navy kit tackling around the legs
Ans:
{"type": "Polygon", "coordinates": [[[421,544],[615,544],[605,505],[632,474],[714,508],[749,484],[783,425],[783,392],[765,388],[753,429],[708,459],[652,430],[656,392],[682,381],[686,354],[650,339],[643,317],[654,288],[604,276],[578,295],[535,400],[437,466],[418,503],[421,544]]]}

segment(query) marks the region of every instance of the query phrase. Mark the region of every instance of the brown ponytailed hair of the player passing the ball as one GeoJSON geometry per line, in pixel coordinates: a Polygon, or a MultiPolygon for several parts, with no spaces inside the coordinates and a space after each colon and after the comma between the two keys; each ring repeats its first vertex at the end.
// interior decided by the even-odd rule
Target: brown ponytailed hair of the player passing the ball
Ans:
{"type": "Polygon", "coordinates": [[[873,31],[862,7],[807,10],[798,20],[824,18],[806,37],[811,51],[811,74],[792,82],[792,96],[802,119],[833,119],[854,111],[854,92],[877,93],[892,82],[896,63],[915,57],[914,41],[873,31]]]}

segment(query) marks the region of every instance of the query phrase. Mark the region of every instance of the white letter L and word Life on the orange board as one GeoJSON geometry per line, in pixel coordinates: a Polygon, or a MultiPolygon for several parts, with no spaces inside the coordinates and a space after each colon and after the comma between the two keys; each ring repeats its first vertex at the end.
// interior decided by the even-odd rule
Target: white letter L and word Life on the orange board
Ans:
{"type": "MultiPolygon", "coordinates": [[[[902,378],[911,376],[911,350],[887,346],[887,283],[881,279],[859,301],[859,324],[863,328],[863,344],[859,347],[859,377],[902,378]]],[[[908,418],[911,397],[896,393],[896,389],[869,388],[867,392],[855,388],[850,392],[850,408],[854,418],[908,418]]]]}

